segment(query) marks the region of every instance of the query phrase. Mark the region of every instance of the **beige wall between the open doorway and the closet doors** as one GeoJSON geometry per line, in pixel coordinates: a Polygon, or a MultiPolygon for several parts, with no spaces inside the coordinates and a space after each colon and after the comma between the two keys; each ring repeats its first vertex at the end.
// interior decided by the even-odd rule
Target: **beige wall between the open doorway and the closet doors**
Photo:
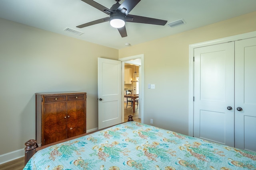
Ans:
{"type": "Polygon", "coordinates": [[[188,135],[188,46],[251,31],[256,12],[119,50],[119,58],[144,54],[144,123],[153,119],[154,126],[188,135]]]}

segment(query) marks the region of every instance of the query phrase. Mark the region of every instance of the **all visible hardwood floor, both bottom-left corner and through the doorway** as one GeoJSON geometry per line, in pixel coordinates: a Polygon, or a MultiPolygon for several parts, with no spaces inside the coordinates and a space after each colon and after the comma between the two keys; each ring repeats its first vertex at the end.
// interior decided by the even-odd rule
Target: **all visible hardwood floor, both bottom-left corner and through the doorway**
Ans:
{"type": "MultiPolygon", "coordinates": [[[[138,105],[139,107],[139,105],[138,105]]],[[[141,122],[141,119],[138,117],[139,108],[135,105],[135,111],[133,113],[133,109],[131,106],[127,106],[124,104],[124,121],[127,121],[128,115],[133,115],[133,120],[141,122]]],[[[0,165],[0,170],[22,170],[24,168],[24,157],[18,158],[16,160],[12,160],[5,164],[0,165]]]]}

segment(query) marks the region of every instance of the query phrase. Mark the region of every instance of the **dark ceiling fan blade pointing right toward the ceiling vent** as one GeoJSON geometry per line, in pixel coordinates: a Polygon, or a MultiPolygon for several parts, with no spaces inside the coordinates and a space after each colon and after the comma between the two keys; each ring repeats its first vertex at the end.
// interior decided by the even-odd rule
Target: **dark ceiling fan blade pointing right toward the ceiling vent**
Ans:
{"type": "Polygon", "coordinates": [[[156,18],[148,18],[143,16],[135,16],[135,15],[128,14],[126,17],[127,17],[126,22],[148,23],[148,24],[154,24],[154,25],[165,25],[167,23],[166,20],[159,20],[156,18]]]}

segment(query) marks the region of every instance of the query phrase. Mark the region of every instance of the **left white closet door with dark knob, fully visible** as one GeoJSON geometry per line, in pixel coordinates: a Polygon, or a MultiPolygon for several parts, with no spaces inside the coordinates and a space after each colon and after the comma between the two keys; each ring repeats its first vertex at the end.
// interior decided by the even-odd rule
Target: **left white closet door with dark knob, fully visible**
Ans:
{"type": "Polygon", "coordinates": [[[194,137],[234,147],[234,42],[194,49],[194,137]]]}

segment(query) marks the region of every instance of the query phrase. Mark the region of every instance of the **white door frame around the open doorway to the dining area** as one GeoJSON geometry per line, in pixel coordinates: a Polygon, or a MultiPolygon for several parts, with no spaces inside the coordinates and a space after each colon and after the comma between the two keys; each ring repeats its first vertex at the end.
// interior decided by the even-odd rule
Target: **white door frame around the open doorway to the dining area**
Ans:
{"type": "MultiPolygon", "coordinates": [[[[140,79],[140,83],[139,83],[139,89],[140,89],[140,95],[139,95],[139,103],[140,103],[140,107],[139,107],[139,111],[141,114],[141,123],[144,123],[144,54],[140,54],[140,55],[134,55],[134,56],[130,56],[130,57],[124,57],[121,59],[118,59],[119,61],[121,61],[121,68],[122,68],[122,103],[124,103],[124,63],[126,61],[131,61],[131,60],[135,60],[135,59],[141,59],[141,66],[139,67],[139,79],[140,79]]],[[[126,119],[128,119],[127,117],[124,117],[124,104],[122,104],[122,122],[126,121],[126,119]]]]}

